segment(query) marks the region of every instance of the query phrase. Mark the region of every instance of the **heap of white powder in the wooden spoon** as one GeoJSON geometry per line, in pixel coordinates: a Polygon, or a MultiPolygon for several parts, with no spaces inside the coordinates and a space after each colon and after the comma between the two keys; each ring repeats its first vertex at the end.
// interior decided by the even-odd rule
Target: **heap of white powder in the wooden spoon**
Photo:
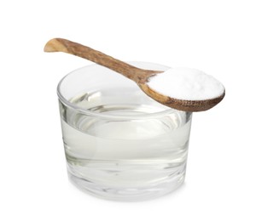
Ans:
{"type": "Polygon", "coordinates": [[[213,99],[224,93],[224,86],[214,77],[190,68],[171,68],[149,78],[149,88],[174,99],[213,99]]]}

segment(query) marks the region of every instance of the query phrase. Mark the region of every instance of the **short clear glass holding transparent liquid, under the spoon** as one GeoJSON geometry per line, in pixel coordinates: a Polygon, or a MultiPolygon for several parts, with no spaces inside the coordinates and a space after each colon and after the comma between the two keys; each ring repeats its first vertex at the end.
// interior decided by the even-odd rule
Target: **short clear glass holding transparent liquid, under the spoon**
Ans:
{"type": "Polygon", "coordinates": [[[191,113],[160,105],[135,82],[100,65],[68,74],[57,92],[67,172],[79,189],[109,200],[142,201],[183,184],[191,113]]]}

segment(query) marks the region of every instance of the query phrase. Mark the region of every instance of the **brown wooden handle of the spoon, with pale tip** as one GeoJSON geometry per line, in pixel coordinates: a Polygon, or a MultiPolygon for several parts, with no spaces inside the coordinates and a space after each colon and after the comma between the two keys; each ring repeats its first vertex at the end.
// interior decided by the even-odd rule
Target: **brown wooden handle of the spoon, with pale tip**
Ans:
{"type": "Polygon", "coordinates": [[[109,69],[119,72],[125,77],[130,78],[134,82],[147,82],[148,77],[154,76],[160,71],[150,71],[137,68],[129,65],[119,59],[103,54],[100,51],[89,48],[77,42],[71,42],[63,38],[53,38],[46,43],[44,47],[45,52],[64,52],[73,54],[84,59],[89,59],[98,65],[108,67],[109,69]]]}

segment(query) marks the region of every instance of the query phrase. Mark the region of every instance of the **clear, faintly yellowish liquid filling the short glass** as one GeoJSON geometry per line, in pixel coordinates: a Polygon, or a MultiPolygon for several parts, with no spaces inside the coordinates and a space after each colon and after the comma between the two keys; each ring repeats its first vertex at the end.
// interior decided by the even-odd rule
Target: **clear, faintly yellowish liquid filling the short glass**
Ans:
{"type": "Polygon", "coordinates": [[[112,199],[126,195],[131,200],[183,183],[191,116],[174,111],[145,118],[166,107],[150,105],[152,100],[140,105],[136,98],[137,94],[131,102],[113,99],[108,90],[71,99],[81,108],[131,119],[84,116],[61,104],[67,168],[74,183],[96,195],[112,199]]]}

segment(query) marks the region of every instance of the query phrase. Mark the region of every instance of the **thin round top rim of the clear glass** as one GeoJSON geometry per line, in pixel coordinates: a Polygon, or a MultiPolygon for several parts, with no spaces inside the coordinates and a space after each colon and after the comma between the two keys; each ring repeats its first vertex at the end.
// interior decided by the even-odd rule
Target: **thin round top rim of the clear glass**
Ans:
{"type": "MultiPolygon", "coordinates": [[[[128,62],[128,63],[131,63],[132,62],[128,62]]],[[[154,65],[154,63],[151,63],[151,62],[136,62],[136,63],[148,63],[148,64],[152,64],[154,65]]],[[[75,111],[78,111],[79,113],[82,113],[82,114],[86,114],[88,116],[95,116],[95,117],[100,117],[100,118],[108,118],[108,119],[117,119],[117,120],[125,120],[125,119],[135,119],[135,120],[139,120],[139,119],[145,119],[145,118],[157,118],[157,117],[162,117],[162,116],[166,116],[168,114],[172,114],[174,112],[181,112],[181,113],[186,113],[186,111],[178,111],[178,110],[175,110],[175,109],[172,109],[171,107],[165,111],[157,111],[157,112],[154,112],[154,113],[144,113],[143,115],[141,114],[138,114],[138,115],[132,115],[132,116],[129,116],[129,115],[122,115],[122,116],[113,116],[113,115],[110,115],[110,114],[106,114],[105,112],[102,112],[102,113],[96,113],[94,111],[90,111],[90,110],[87,110],[87,109],[84,109],[84,108],[81,108],[79,107],[78,105],[75,105],[73,104],[72,102],[70,102],[68,99],[66,99],[62,94],[61,94],[61,83],[67,78],[69,77],[70,75],[73,75],[76,71],[79,71],[81,69],[84,69],[86,67],[89,67],[89,66],[94,66],[96,64],[92,64],[92,65],[85,65],[85,66],[82,66],[78,69],[75,69],[73,71],[70,71],[69,73],[67,73],[66,76],[62,77],[60,82],[58,83],[57,85],[57,95],[58,95],[58,98],[59,100],[61,101],[61,103],[63,105],[66,105],[67,107],[70,107],[70,108],[73,108],[73,110],[75,111]]],[[[158,64],[155,64],[155,65],[158,65],[158,64]]],[[[164,65],[162,65],[164,66],[164,65]]],[[[155,101],[157,102],[157,101],[155,101]]]]}

